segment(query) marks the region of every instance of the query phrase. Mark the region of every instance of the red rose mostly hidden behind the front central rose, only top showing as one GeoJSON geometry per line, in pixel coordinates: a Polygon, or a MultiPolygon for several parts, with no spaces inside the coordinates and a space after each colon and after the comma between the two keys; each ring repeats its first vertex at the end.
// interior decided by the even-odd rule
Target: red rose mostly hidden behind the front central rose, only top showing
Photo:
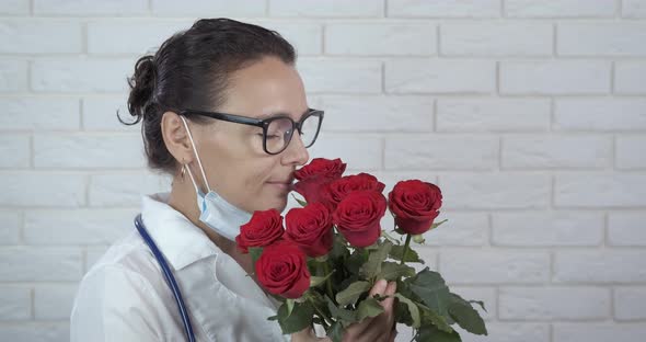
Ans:
{"type": "Polygon", "coordinates": [[[382,192],[385,184],[381,183],[374,175],[369,173],[359,173],[345,175],[338,180],[327,183],[321,189],[322,202],[334,212],[336,206],[350,192],[359,190],[372,190],[382,192]]]}

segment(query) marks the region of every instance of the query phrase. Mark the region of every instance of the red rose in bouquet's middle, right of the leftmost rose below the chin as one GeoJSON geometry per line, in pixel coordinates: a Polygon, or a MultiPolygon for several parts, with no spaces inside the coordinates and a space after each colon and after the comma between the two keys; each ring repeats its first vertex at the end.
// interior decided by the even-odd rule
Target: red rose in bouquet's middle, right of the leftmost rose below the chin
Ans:
{"type": "Polygon", "coordinates": [[[334,242],[332,216],[321,203],[292,208],[285,216],[288,240],[293,241],[312,258],[327,254],[334,242]]]}

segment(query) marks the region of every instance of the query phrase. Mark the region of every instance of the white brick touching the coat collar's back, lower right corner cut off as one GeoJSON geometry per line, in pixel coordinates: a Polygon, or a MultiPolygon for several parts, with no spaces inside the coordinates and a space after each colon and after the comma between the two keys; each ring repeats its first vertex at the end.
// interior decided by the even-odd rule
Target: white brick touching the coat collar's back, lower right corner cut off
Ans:
{"type": "Polygon", "coordinates": [[[25,213],[28,244],[109,244],[132,229],[138,209],[66,209],[25,213]],[[58,229],[51,229],[58,227],[58,229]]]}

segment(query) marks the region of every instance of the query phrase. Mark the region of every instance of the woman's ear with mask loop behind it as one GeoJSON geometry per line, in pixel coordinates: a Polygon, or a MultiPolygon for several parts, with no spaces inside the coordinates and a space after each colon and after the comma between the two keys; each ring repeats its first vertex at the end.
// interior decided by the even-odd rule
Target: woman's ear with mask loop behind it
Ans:
{"type": "MultiPolygon", "coordinates": [[[[161,133],[166,149],[175,160],[180,163],[188,163],[193,161],[195,152],[182,118],[174,112],[165,112],[161,119],[161,133]]],[[[186,121],[186,125],[188,124],[189,122],[186,121]]]]}

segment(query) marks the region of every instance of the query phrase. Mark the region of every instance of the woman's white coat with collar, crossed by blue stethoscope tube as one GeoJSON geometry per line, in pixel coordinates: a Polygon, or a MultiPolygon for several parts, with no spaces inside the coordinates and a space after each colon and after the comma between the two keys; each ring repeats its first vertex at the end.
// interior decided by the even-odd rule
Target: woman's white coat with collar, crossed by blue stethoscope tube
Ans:
{"type": "MultiPolygon", "coordinates": [[[[164,254],[197,341],[290,341],[265,295],[235,260],[168,203],[142,197],[141,218],[164,254]]],[[[132,224],[85,274],[71,312],[71,341],[186,341],[173,294],[132,224]]]]}

